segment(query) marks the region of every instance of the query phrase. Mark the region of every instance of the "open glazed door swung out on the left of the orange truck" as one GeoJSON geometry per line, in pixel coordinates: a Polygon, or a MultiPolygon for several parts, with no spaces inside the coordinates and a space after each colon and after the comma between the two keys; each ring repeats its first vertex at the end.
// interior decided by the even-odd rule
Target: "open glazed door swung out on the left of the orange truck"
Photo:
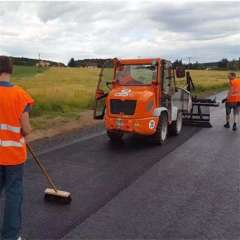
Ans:
{"type": "Polygon", "coordinates": [[[106,61],[99,73],[99,80],[95,95],[94,119],[103,119],[106,110],[106,98],[112,87],[114,78],[113,61],[106,61]]]}

